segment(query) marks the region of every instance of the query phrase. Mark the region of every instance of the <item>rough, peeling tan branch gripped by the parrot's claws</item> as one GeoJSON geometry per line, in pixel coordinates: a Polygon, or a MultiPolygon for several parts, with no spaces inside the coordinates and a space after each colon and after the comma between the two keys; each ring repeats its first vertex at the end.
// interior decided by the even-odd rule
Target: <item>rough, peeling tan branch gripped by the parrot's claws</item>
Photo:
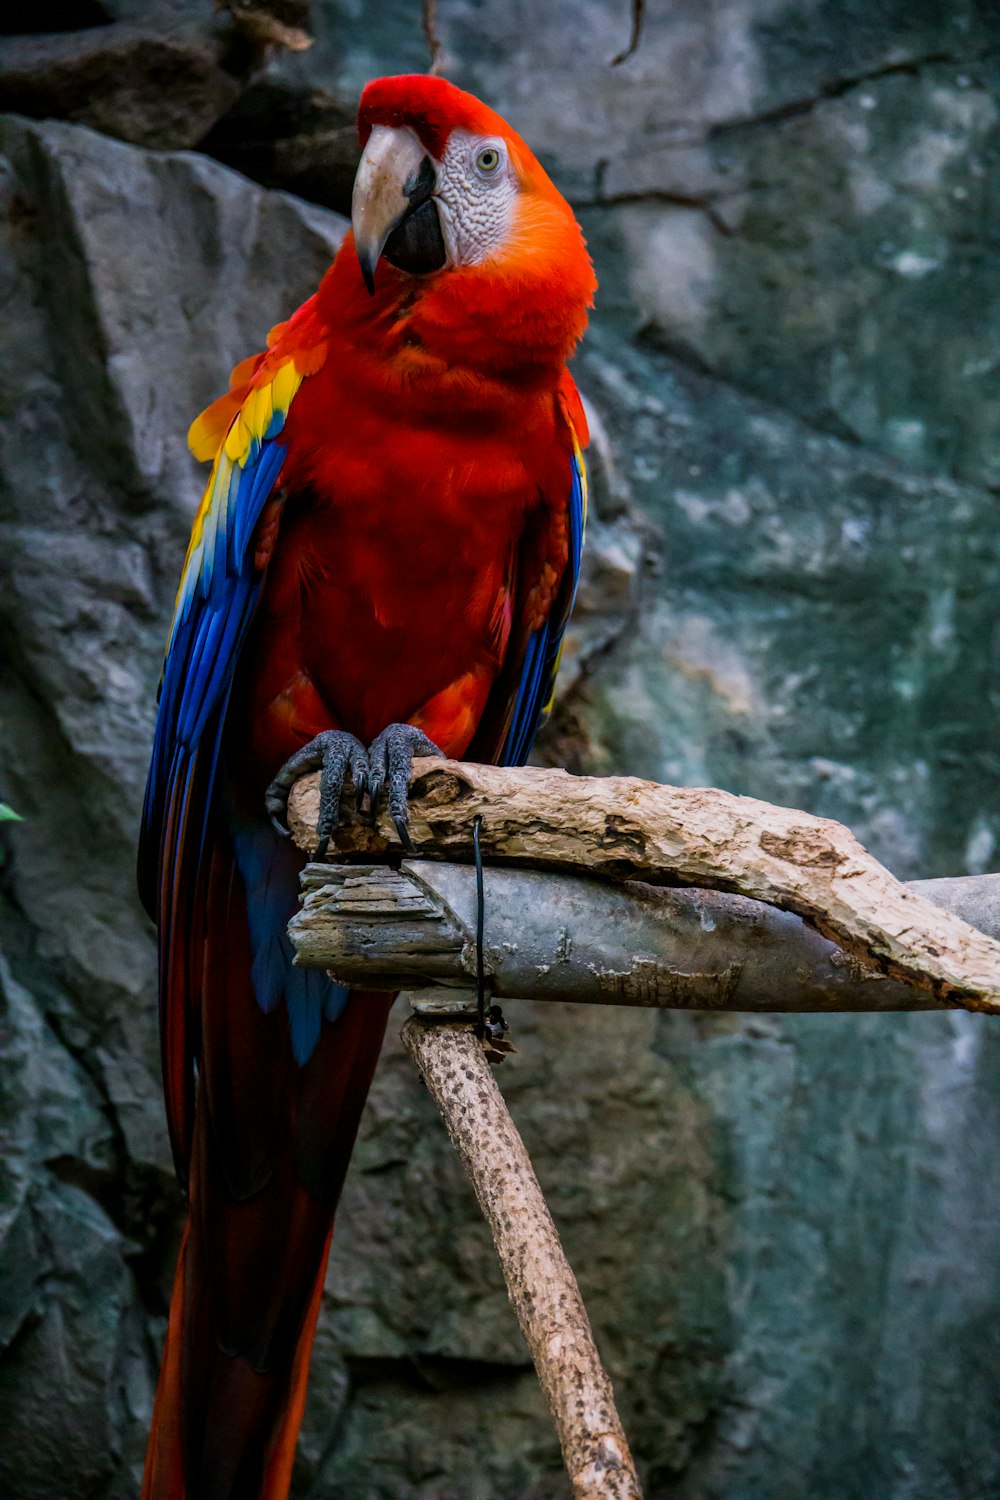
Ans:
{"type": "MultiPolygon", "coordinates": [[[[310,852],[318,798],[318,776],[289,798],[292,834],[310,852]]],[[[348,801],[334,858],[399,848],[384,818],[372,830],[348,801]]],[[[411,832],[421,855],[468,861],[477,813],[487,861],[733,891],[795,912],[862,963],[937,1000],[1000,1011],[1000,944],[894,879],[829,819],[633,777],[414,764],[411,832]]]]}

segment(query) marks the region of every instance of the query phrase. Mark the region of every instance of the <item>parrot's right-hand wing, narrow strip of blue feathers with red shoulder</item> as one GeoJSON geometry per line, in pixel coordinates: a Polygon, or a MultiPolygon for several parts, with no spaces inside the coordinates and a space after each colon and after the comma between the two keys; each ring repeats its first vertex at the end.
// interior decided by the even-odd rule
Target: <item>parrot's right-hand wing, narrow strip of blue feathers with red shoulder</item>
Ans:
{"type": "Polygon", "coordinates": [[[564,554],[559,558],[561,579],[544,618],[526,634],[523,632],[519,634],[516,628],[511,632],[513,651],[508,652],[505,670],[501,672],[490,700],[487,700],[481,729],[469,747],[469,756],[490,759],[496,765],[525,764],[534,738],[552,708],[562,638],[580,580],[586,528],[586,466],[580,440],[586,441],[586,420],[580,398],[568,375],[564,382],[561,410],[573,442],[567,465],[568,494],[562,506],[555,506],[549,512],[555,526],[549,525],[543,537],[528,537],[528,550],[534,556],[531,561],[520,560],[514,616],[517,618],[522,612],[535,588],[537,580],[532,574],[540,570],[540,564],[544,568],[546,564],[552,562],[553,532],[559,538],[556,544],[564,554]],[[540,542],[541,548],[538,548],[540,542]],[[517,663],[520,663],[519,669],[517,663]],[[511,668],[516,672],[513,676],[511,668]]]}

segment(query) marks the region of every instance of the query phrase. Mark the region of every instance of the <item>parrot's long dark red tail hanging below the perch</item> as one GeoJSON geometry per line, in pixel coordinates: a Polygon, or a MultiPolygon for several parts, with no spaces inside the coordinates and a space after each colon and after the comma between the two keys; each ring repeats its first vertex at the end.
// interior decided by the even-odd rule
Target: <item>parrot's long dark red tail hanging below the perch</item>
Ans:
{"type": "MultiPolygon", "coordinates": [[[[258,1096],[267,1128],[235,1160],[199,1077],[142,1500],[286,1500],[333,1212],[391,1002],[349,996],[309,1062],[270,1080],[291,1096],[258,1096]]],[[[253,1029],[271,1020],[250,1005],[253,1029]]]]}

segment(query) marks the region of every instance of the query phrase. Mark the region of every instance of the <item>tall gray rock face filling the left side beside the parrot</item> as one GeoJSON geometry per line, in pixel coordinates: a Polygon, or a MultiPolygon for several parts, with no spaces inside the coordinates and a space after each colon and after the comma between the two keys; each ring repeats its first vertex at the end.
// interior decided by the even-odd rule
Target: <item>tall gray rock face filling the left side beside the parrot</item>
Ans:
{"type": "Polygon", "coordinates": [[[3,123],[0,1490],[138,1492],[180,1196],[135,828],[190,417],[343,232],[204,158],[3,123]],[[7,970],[3,970],[6,975],[7,970]]]}

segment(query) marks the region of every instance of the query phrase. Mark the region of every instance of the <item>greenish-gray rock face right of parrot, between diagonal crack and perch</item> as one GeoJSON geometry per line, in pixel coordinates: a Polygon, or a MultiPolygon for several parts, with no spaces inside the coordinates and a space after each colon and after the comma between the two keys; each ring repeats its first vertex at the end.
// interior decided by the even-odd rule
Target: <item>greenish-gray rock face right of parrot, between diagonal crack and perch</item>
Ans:
{"type": "Polygon", "coordinates": [[[907,878],[982,868],[1000,838],[990,490],[601,330],[580,378],[661,549],[615,676],[576,705],[586,764],[810,807],[907,878]]]}

